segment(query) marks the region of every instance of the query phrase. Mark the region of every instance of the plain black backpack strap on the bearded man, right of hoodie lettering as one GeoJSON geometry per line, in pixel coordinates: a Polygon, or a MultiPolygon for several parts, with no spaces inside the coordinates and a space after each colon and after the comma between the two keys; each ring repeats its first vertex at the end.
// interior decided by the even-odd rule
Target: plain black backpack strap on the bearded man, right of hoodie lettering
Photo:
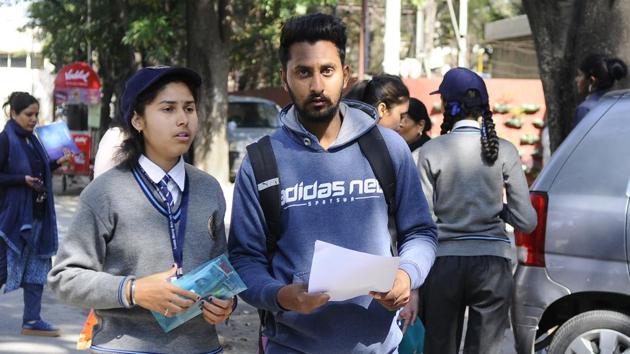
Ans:
{"type": "Polygon", "coordinates": [[[378,126],[359,137],[359,147],[370,163],[374,176],[383,189],[387,202],[387,228],[391,237],[391,251],[398,255],[398,229],[396,227],[396,174],[394,163],[378,126]]]}

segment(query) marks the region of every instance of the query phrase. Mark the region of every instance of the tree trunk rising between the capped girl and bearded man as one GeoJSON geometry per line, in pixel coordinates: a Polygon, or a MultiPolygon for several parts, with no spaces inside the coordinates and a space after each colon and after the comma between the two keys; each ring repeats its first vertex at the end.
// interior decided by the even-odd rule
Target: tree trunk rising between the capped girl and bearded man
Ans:
{"type": "Polygon", "coordinates": [[[228,181],[226,135],[229,71],[228,0],[187,0],[188,66],[202,77],[194,163],[219,182],[228,181]]]}

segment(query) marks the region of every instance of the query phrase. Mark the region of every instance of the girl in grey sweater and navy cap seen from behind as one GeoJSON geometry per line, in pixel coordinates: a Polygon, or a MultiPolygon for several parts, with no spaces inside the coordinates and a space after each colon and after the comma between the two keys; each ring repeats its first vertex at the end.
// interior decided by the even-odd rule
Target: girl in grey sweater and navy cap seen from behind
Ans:
{"type": "Polygon", "coordinates": [[[497,137],[481,77],[452,69],[434,93],[442,136],[423,145],[418,167],[438,226],[437,259],[421,290],[424,352],[459,352],[468,307],[464,352],[499,354],[512,292],[505,224],[530,232],[536,213],[518,151],[497,137]]]}

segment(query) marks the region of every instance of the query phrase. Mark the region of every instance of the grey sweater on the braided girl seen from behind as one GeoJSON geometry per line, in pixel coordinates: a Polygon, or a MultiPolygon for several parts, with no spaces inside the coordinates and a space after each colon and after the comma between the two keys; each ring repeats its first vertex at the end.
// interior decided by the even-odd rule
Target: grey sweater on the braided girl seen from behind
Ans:
{"type": "Polygon", "coordinates": [[[518,151],[499,139],[497,160],[486,163],[476,121],[461,120],[449,134],[424,144],[419,170],[438,227],[438,257],[511,258],[505,223],[525,232],[536,227],[518,151]]]}

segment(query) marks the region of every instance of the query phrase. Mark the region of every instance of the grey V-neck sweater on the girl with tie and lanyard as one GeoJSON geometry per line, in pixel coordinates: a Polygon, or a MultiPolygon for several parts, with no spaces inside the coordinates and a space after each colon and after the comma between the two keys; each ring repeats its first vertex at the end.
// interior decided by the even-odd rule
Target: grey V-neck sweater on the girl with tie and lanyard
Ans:
{"type": "MultiPolygon", "coordinates": [[[[225,200],[218,182],[191,165],[185,169],[189,202],[184,273],[226,247],[225,200]]],[[[167,271],[174,263],[168,218],[149,201],[138,176],[150,183],[114,168],[85,188],[49,273],[49,285],[63,302],[95,309],[93,352],[218,352],[215,328],[201,316],[164,333],[148,310],[126,306],[120,291],[125,281],[167,271]]]]}

